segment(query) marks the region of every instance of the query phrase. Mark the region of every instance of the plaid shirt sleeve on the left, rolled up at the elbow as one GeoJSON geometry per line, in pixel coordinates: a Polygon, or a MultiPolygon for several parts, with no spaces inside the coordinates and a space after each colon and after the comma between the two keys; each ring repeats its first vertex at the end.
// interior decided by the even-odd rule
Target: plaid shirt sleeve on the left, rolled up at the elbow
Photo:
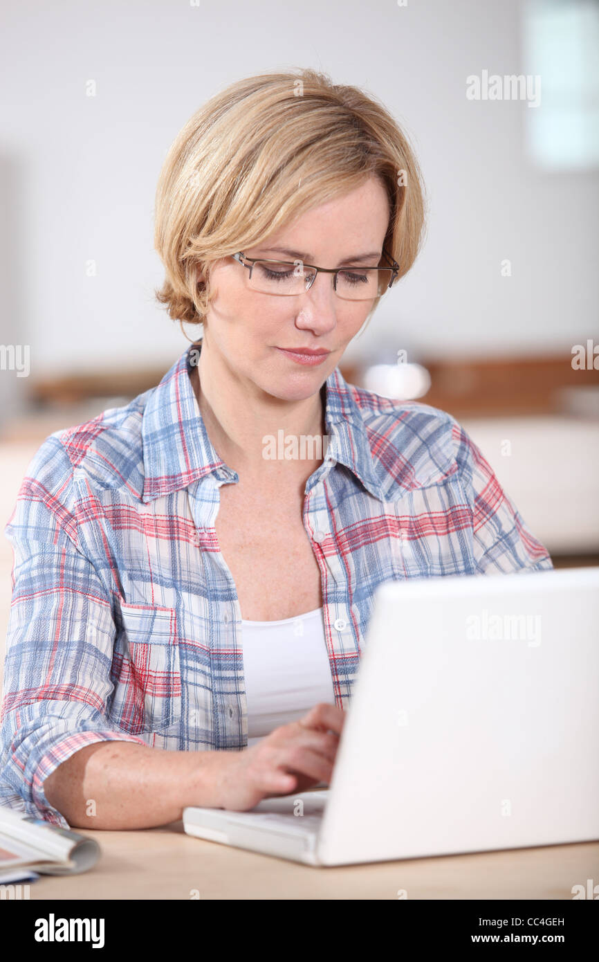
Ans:
{"type": "Polygon", "coordinates": [[[43,790],[51,772],[95,742],[147,745],[109,720],[115,625],[110,596],[78,546],[74,498],[73,466],[50,435],[4,529],[13,566],[0,803],[62,827],[68,823],[43,790]]]}

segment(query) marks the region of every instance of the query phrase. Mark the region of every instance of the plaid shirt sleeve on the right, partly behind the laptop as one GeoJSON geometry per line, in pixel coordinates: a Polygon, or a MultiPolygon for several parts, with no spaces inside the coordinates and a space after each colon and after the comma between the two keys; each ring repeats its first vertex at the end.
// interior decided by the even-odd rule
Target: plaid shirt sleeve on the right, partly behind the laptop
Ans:
{"type": "Polygon", "coordinates": [[[453,433],[462,481],[473,509],[477,570],[492,574],[553,569],[549,552],[522,519],[480,448],[457,421],[453,433]]]}

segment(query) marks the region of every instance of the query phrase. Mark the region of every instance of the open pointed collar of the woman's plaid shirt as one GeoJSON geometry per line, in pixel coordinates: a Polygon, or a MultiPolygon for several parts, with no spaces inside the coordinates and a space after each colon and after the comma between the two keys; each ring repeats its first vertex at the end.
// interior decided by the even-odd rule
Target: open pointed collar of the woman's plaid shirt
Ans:
{"type": "MultiPolygon", "coordinates": [[[[216,453],[189,375],[197,364],[201,342],[190,344],[149,392],[141,421],[144,503],[187,488],[209,474],[237,479],[216,453]]],[[[345,465],[375,497],[383,485],[375,473],[361,409],[338,367],[327,378],[325,425],[330,438],[325,461],[345,465]]]]}

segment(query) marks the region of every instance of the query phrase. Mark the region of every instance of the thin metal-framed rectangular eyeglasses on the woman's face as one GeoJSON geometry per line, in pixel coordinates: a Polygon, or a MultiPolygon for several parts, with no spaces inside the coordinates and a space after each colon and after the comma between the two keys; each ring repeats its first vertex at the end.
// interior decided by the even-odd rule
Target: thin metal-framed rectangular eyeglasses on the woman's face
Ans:
{"type": "Polygon", "coordinates": [[[391,287],[397,279],[399,265],[385,250],[383,256],[390,267],[316,267],[299,260],[246,257],[242,251],[231,255],[241,266],[248,268],[248,284],[252,291],[287,297],[302,294],[310,291],[320,271],[334,275],[333,289],[343,300],[373,300],[391,287]]]}

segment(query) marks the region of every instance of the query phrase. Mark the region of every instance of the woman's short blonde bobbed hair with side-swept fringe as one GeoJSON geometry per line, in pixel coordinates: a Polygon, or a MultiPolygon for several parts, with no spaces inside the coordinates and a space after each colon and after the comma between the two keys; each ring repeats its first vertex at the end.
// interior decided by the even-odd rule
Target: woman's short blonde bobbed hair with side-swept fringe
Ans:
{"type": "Polygon", "coordinates": [[[424,185],[383,104],[312,69],[264,73],[216,93],[187,120],[162,165],[154,245],[165,279],[157,300],[173,320],[202,323],[215,262],[373,174],[387,188],[385,247],[403,277],[423,240],[424,185]]]}

